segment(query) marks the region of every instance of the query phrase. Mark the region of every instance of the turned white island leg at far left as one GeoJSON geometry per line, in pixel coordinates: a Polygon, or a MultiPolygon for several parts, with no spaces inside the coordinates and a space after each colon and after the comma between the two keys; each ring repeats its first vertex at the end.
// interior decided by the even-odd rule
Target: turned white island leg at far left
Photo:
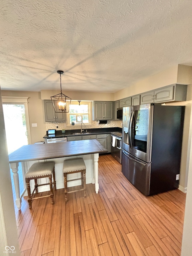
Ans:
{"type": "Polygon", "coordinates": [[[18,166],[19,163],[10,163],[10,167],[13,172],[13,181],[15,186],[15,194],[16,194],[16,206],[20,210],[21,209],[21,197],[20,197],[20,190],[19,190],[19,174],[18,174],[18,166]]]}

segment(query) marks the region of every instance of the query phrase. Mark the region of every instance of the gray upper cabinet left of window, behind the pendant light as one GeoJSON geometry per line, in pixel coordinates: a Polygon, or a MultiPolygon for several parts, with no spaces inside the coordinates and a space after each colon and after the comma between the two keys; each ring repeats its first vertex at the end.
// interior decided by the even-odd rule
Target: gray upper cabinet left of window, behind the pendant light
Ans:
{"type": "MultiPolygon", "coordinates": [[[[57,103],[57,101],[54,101],[54,104],[57,103]]],[[[58,104],[55,104],[57,107],[58,104]]],[[[65,113],[55,113],[55,109],[53,107],[51,100],[44,100],[44,109],[45,109],[45,122],[51,122],[51,121],[65,121],[65,113]]],[[[57,109],[56,109],[57,110],[57,109]]]]}

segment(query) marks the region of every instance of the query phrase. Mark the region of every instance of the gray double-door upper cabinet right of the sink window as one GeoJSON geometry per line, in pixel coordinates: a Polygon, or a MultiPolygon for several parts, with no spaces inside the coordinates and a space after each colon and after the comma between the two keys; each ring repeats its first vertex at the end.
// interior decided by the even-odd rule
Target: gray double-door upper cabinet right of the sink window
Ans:
{"type": "Polygon", "coordinates": [[[113,119],[113,101],[94,101],[94,120],[113,119]]]}

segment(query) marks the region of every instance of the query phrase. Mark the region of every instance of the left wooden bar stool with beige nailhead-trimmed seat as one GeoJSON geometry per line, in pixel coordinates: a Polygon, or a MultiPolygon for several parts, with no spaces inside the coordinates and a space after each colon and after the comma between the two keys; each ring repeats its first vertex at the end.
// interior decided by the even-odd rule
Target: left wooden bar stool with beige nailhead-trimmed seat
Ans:
{"type": "Polygon", "coordinates": [[[27,184],[29,209],[32,209],[32,200],[43,198],[43,197],[50,197],[51,204],[54,204],[53,190],[56,190],[55,162],[54,161],[38,162],[38,163],[32,164],[32,166],[29,168],[29,170],[25,174],[25,180],[26,180],[26,184],[27,184]],[[53,175],[53,183],[52,183],[52,175],[53,175]],[[46,178],[46,177],[49,177],[49,183],[38,185],[37,179],[46,178]],[[35,188],[34,188],[32,194],[31,194],[31,188],[30,188],[30,180],[31,179],[35,180],[35,188]],[[38,187],[43,186],[43,185],[50,185],[50,195],[32,198],[34,192],[36,194],[38,193],[38,187]]]}

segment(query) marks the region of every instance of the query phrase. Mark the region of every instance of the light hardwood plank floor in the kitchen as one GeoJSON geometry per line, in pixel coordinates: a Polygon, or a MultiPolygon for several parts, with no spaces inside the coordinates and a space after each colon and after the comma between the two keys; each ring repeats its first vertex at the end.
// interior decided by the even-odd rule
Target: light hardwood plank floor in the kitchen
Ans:
{"type": "MultiPolygon", "coordinates": [[[[45,194],[47,192],[44,192],[45,194]]],[[[99,157],[99,193],[94,184],[68,195],[27,198],[16,210],[22,256],[180,255],[185,194],[178,189],[155,196],[141,194],[123,176],[111,155],[99,157]]]]}

